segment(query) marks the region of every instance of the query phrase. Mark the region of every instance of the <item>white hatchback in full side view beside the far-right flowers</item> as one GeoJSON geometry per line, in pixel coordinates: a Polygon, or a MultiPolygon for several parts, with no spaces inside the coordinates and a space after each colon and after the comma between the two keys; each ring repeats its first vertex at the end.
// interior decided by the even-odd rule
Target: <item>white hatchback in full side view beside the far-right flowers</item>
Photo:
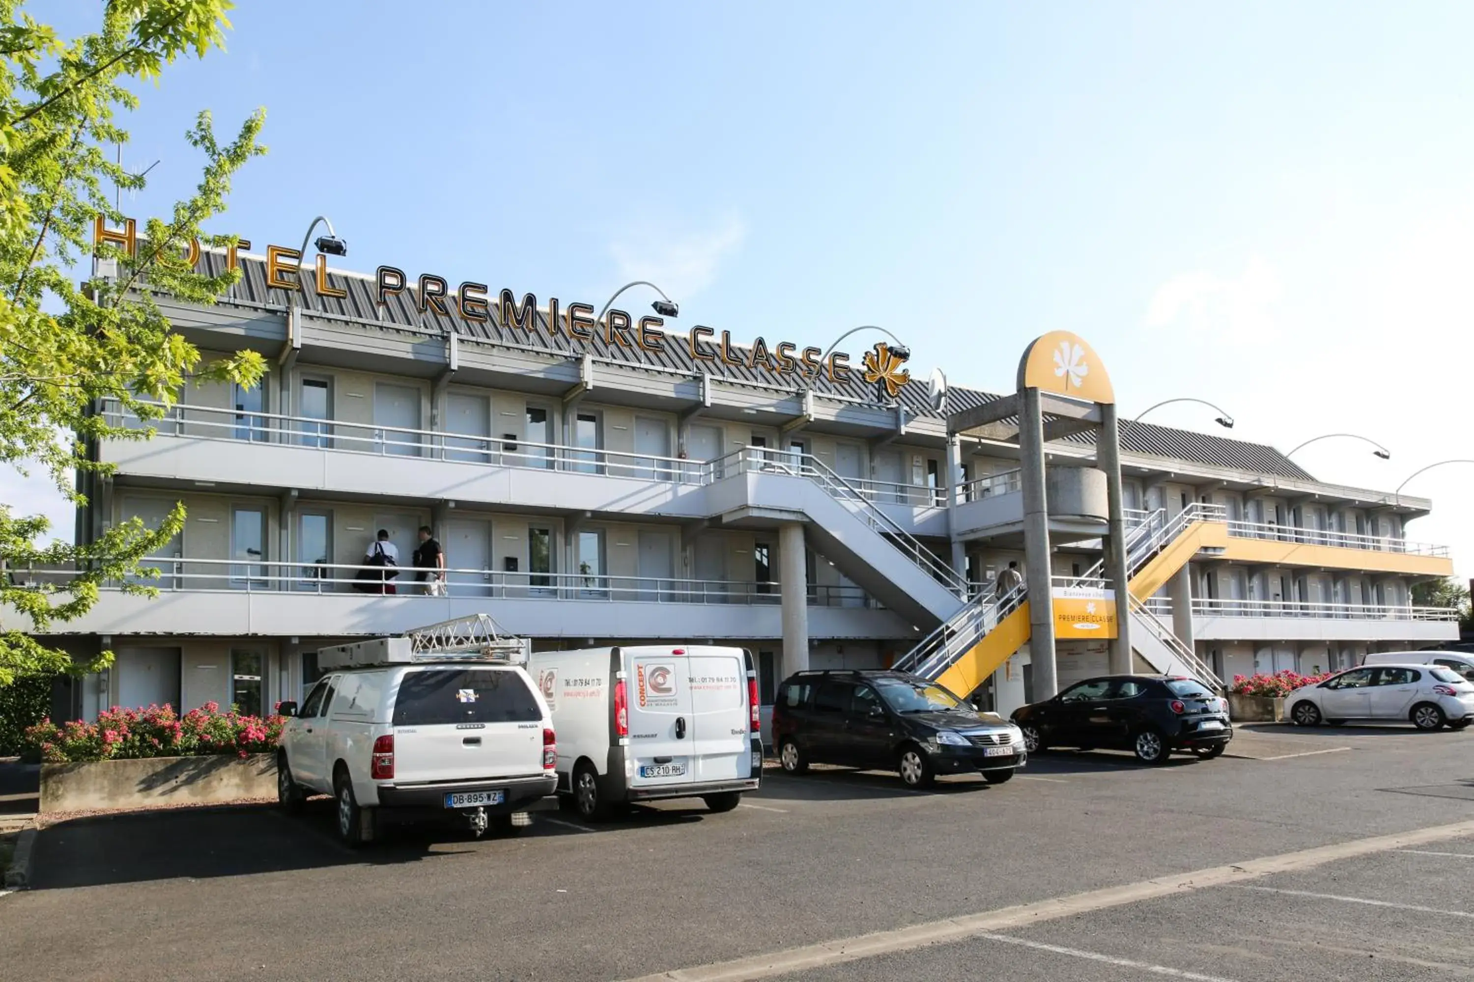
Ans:
{"type": "Polygon", "coordinates": [[[1362,665],[1296,689],[1285,699],[1296,726],[1347,720],[1411,720],[1419,730],[1474,723],[1474,683],[1430,664],[1362,665]]]}

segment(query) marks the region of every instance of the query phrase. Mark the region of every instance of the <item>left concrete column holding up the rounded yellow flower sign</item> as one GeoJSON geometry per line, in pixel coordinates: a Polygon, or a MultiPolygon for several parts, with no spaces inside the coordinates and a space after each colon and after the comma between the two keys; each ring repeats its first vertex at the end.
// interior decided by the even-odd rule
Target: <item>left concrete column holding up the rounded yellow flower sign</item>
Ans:
{"type": "Polygon", "coordinates": [[[1044,411],[1039,390],[1023,390],[1019,414],[1019,456],[1023,478],[1023,557],[1029,586],[1029,658],[1033,698],[1060,689],[1054,661],[1054,589],[1049,567],[1049,509],[1044,490],[1044,411]]]}

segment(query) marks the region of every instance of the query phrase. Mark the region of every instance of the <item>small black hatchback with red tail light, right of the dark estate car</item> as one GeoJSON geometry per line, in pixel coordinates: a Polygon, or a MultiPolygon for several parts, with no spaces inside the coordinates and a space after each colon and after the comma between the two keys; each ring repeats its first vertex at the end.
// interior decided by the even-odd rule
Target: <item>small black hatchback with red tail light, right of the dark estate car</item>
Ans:
{"type": "Polygon", "coordinates": [[[1172,751],[1201,760],[1234,739],[1228,702],[1188,676],[1103,676],[1073,685],[1052,699],[1014,710],[1029,752],[1051,746],[1129,749],[1144,764],[1172,751]]]}

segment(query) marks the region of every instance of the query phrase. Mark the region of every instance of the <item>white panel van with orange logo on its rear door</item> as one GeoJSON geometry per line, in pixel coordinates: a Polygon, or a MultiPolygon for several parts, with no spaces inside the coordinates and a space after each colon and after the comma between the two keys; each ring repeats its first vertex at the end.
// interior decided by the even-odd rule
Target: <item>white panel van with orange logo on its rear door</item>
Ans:
{"type": "Polygon", "coordinates": [[[741,648],[534,652],[557,729],[557,788],[590,820],[628,802],[702,798],[731,811],[762,777],[758,676],[741,648]]]}

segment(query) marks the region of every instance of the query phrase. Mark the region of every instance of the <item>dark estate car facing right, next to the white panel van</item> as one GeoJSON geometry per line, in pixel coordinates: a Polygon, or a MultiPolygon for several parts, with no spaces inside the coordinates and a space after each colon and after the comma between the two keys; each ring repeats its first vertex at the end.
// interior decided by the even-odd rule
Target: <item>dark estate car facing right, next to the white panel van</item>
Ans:
{"type": "Polygon", "coordinates": [[[1023,767],[1023,733],[902,671],[800,671],[778,688],[772,742],[790,774],[814,764],[898,770],[911,788],[976,773],[1001,785],[1023,767]]]}

